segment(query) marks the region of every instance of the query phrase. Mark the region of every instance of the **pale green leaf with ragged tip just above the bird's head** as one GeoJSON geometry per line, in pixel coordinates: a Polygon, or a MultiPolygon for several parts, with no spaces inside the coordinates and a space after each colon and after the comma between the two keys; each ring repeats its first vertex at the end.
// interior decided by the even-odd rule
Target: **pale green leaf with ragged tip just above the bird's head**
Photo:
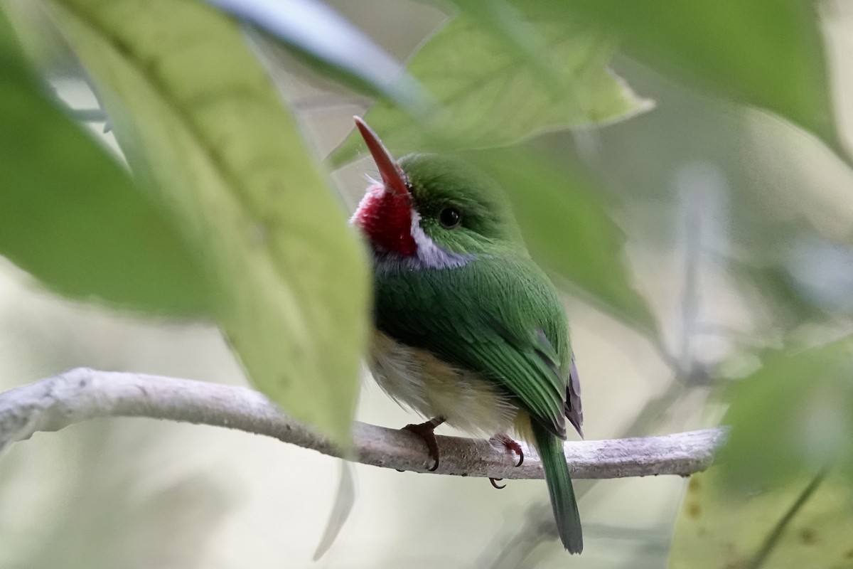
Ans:
{"type": "MultiPolygon", "coordinates": [[[[497,36],[471,15],[456,16],[409,61],[408,70],[440,105],[415,123],[386,99],[365,115],[386,146],[412,150],[490,148],[537,133],[624,119],[651,107],[607,67],[611,35],[572,21],[537,15],[528,23],[541,41],[530,51],[497,36]],[[548,73],[543,73],[543,68],[548,73]]],[[[527,46],[530,48],[530,46],[527,46]]],[[[355,132],[332,155],[341,165],[361,148],[355,132]]]]}

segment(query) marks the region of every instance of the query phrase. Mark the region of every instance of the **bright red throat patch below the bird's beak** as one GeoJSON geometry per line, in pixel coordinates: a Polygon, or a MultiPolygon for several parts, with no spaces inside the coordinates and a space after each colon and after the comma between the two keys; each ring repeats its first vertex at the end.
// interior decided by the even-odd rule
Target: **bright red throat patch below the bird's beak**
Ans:
{"type": "Polygon", "coordinates": [[[381,185],[372,186],[358,205],[353,220],[374,246],[405,257],[417,253],[409,195],[386,191],[381,185]]]}

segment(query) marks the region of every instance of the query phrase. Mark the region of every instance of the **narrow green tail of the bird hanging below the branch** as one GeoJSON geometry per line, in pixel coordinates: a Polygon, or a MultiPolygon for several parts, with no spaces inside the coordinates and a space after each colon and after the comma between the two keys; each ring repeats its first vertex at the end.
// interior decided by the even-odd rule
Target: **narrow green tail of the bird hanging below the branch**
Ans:
{"type": "Polygon", "coordinates": [[[577,513],[572,477],[569,476],[569,467],[563,454],[563,441],[548,433],[545,427],[535,423],[532,427],[537,450],[542,458],[545,479],[548,481],[548,494],[551,495],[551,506],[554,508],[560,540],[569,553],[580,553],[583,551],[581,518],[577,513]]]}

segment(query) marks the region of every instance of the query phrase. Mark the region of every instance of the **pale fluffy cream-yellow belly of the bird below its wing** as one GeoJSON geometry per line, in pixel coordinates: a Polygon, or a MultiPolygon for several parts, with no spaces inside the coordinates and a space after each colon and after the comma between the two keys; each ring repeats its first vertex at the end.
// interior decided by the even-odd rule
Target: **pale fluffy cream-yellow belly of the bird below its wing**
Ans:
{"type": "MultiPolygon", "coordinates": [[[[382,390],[403,407],[426,418],[444,417],[473,435],[509,433],[519,408],[493,382],[456,368],[428,351],[402,345],[374,332],[370,370],[382,390]]],[[[526,422],[526,414],[519,416],[526,422]]]]}

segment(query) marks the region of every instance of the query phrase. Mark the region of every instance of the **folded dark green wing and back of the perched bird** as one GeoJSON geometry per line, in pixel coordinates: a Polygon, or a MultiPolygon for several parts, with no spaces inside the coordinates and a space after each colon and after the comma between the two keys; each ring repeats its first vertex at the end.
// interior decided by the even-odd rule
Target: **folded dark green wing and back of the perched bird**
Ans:
{"type": "Polygon", "coordinates": [[[452,269],[385,267],[375,279],[377,328],[494,380],[566,437],[566,314],[536,264],[480,258],[452,269]]]}

